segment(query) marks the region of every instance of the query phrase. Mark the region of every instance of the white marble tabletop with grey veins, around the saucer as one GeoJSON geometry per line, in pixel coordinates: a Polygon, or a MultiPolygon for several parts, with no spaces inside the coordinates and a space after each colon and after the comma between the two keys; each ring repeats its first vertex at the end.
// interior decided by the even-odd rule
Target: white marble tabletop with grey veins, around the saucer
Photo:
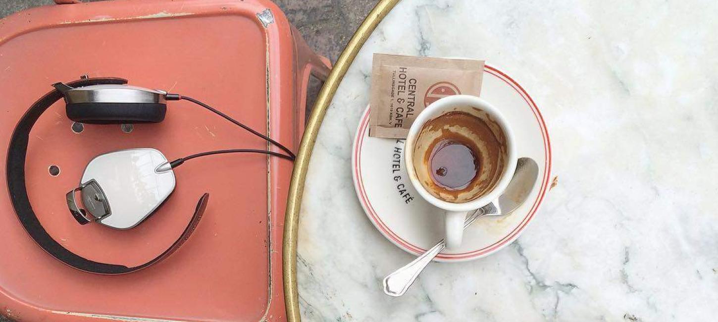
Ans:
{"type": "Polygon", "coordinates": [[[305,321],[716,321],[718,2],[404,0],[327,112],[299,231],[305,321]],[[474,262],[429,265],[402,298],[381,279],[412,257],[355,196],[351,142],[371,54],[484,58],[549,126],[554,175],[531,226],[474,262]]]}

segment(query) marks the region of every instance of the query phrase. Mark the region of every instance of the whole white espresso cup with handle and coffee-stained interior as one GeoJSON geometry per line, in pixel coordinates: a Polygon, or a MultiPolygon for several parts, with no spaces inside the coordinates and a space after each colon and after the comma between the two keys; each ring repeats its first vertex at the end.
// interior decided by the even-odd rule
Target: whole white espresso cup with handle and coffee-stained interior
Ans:
{"type": "Polygon", "coordinates": [[[411,124],[404,146],[411,184],[445,212],[449,249],[461,246],[467,213],[503,193],[516,160],[513,132],[504,116],[469,95],[447,96],[427,106],[411,124]]]}

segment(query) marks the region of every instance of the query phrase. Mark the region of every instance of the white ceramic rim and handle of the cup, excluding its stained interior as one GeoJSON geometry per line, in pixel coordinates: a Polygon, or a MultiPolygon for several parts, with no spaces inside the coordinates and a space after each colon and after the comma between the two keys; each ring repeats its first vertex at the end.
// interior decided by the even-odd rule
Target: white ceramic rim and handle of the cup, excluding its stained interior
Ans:
{"type": "Polygon", "coordinates": [[[446,219],[444,221],[446,233],[444,241],[449,249],[457,249],[461,246],[462,237],[464,235],[464,221],[467,213],[488,205],[503,193],[513,177],[513,172],[516,170],[516,160],[516,144],[514,143],[513,132],[504,116],[487,101],[470,95],[447,96],[427,106],[424,111],[421,111],[419,116],[416,116],[414,123],[411,124],[411,129],[409,129],[409,135],[406,137],[406,144],[404,146],[404,162],[406,163],[406,171],[409,174],[411,184],[414,185],[414,188],[416,188],[422,198],[426,199],[426,201],[432,205],[444,209],[446,212],[446,219]],[[416,175],[416,169],[414,167],[414,147],[416,139],[419,137],[419,133],[427,121],[447,114],[450,111],[465,111],[474,114],[476,113],[476,109],[474,108],[488,114],[490,119],[503,130],[506,143],[506,159],[503,172],[492,189],[479,195],[475,199],[462,203],[444,201],[435,197],[432,193],[429,193],[416,175]]]}

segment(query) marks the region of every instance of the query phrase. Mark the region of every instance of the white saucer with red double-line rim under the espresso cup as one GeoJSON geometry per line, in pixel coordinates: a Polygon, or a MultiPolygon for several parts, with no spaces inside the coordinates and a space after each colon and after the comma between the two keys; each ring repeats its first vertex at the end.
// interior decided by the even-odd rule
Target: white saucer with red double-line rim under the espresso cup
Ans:
{"type": "MultiPolygon", "coordinates": [[[[481,97],[508,119],[516,135],[518,157],[536,160],[539,180],[526,203],[508,216],[479,218],[465,231],[462,247],[444,250],[434,259],[438,262],[485,257],[510,244],[526,229],[549,190],[551,142],[531,97],[515,80],[489,65],[484,68],[481,97]]],[[[359,201],[369,220],[389,241],[411,254],[424,253],[444,237],[444,212],[421,199],[406,178],[404,140],[369,137],[368,124],[367,107],[352,152],[352,176],[359,201]]]]}

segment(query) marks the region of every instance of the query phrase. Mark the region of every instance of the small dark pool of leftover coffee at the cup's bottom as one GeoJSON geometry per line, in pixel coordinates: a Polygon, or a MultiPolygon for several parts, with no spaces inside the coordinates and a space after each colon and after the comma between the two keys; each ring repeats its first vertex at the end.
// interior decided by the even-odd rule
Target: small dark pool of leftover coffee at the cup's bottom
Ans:
{"type": "Polygon", "coordinates": [[[434,183],[447,190],[467,188],[479,168],[474,152],[464,144],[439,142],[432,151],[429,165],[434,183]]]}

